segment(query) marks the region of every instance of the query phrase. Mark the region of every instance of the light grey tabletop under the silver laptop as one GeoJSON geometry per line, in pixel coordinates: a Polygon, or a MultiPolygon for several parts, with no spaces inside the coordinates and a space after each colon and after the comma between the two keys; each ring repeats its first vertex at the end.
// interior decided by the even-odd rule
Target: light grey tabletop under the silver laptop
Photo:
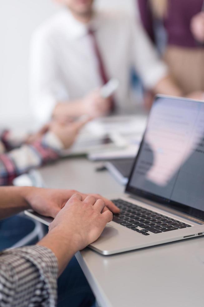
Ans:
{"type": "MultiPolygon", "coordinates": [[[[41,168],[46,186],[102,195],[122,194],[100,163],[85,158],[63,159],[41,168]]],[[[76,254],[103,307],[201,307],[204,304],[204,237],[112,256],[89,248],[76,254]]]]}

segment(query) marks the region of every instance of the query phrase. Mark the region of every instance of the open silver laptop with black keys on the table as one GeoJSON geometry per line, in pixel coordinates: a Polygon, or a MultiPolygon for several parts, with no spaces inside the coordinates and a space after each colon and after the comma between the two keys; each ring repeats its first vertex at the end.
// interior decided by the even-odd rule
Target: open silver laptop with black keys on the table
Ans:
{"type": "Polygon", "coordinates": [[[120,214],[89,246],[103,255],[204,235],[204,102],[156,96],[125,193],[113,202],[120,214]]]}

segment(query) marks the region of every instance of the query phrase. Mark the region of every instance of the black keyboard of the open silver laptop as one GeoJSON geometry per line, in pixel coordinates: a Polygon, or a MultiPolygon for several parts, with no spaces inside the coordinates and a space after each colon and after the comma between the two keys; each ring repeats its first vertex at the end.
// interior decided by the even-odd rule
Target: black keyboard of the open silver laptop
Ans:
{"type": "Polygon", "coordinates": [[[151,232],[160,233],[191,227],[191,225],[133,205],[122,199],[112,200],[112,202],[120,209],[120,213],[113,216],[113,221],[144,236],[149,236],[151,232]]]}

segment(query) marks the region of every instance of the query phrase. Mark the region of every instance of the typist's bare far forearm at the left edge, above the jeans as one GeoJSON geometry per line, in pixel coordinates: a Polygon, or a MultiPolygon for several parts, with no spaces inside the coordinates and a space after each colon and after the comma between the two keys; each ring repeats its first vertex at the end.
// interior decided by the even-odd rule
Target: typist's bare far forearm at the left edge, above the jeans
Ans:
{"type": "Polygon", "coordinates": [[[34,187],[0,187],[0,219],[29,209],[27,195],[34,187]]]}

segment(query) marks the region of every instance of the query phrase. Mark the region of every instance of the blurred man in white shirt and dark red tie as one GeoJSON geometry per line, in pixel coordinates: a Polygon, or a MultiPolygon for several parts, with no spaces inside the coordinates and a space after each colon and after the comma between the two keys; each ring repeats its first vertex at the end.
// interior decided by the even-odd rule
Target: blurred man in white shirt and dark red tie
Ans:
{"type": "Polygon", "coordinates": [[[182,95],[134,18],[95,11],[93,0],[57,0],[66,9],[36,30],[32,39],[31,97],[36,117],[101,116],[135,112],[130,69],[155,94],[182,95]],[[114,97],[100,87],[119,80],[114,97]]]}

